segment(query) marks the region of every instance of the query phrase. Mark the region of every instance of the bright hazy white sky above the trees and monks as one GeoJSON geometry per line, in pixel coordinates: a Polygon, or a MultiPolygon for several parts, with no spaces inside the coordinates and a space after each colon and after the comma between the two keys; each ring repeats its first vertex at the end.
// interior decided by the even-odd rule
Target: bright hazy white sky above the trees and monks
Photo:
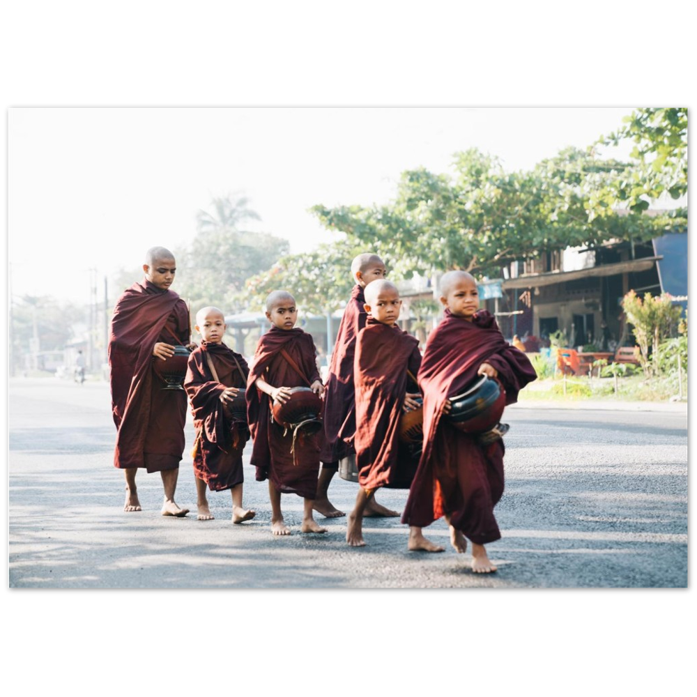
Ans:
{"type": "Polygon", "coordinates": [[[258,229],[310,250],[331,239],[307,212],[314,204],[388,201],[401,171],[447,171],[471,147],[507,169],[533,167],[588,146],[630,112],[10,108],[12,292],[89,302],[89,268],[101,279],[141,263],[148,247],[190,242],[197,210],[228,192],[251,199],[258,229]]]}

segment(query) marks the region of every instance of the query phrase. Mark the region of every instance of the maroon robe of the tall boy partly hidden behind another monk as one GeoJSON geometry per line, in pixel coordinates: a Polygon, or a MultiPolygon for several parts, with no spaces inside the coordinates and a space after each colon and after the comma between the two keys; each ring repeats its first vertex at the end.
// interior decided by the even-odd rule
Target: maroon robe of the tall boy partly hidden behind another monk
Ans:
{"type": "Polygon", "coordinates": [[[355,388],[353,386],[353,359],[355,339],[365,327],[368,316],[363,305],[365,296],[361,286],[353,286],[337,341],[332,351],[327,385],[324,390],[324,445],[320,455],[325,466],[337,466],[340,459],[355,452],[355,388]]]}

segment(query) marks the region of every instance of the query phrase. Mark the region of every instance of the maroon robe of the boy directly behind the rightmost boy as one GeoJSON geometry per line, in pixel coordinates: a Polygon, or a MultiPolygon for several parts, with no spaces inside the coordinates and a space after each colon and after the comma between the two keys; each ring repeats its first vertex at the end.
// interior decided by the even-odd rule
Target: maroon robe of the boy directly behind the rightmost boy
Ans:
{"type": "MultiPolygon", "coordinates": [[[[399,441],[407,370],[421,365],[419,342],[399,327],[367,319],[355,348],[355,452],[364,489],[408,489],[417,462],[399,441]]],[[[411,388],[415,390],[415,388],[411,388]]],[[[418,459],[417,459],[418,461],[418,459]]]]}

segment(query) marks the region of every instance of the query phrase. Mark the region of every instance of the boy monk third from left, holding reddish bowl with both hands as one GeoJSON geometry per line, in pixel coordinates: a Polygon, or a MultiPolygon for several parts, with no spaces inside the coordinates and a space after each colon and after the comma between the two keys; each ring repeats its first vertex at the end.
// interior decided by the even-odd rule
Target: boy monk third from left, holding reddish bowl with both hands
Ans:
{"type": "Polygon", "coordinates": [[[317,371],[314,343],[309,334],[294,328],[298,308],[291,293],[270,293],[266,298],[266,317],[271,328],[256,346],[247,388],[256,480],[268,479],[273,535],[291,534],[281,512],[282,493],[296,493],[305,499],[300,532],[325,533],[326,528],[321,528],[312,517],[319,474],[320,436],[299,434],[293,443],[290,429],[286,432],[272,420],[270,413],[273,401],[285,404],[294,387],[309,387],[322,396],[324,387],[317,371]]]}

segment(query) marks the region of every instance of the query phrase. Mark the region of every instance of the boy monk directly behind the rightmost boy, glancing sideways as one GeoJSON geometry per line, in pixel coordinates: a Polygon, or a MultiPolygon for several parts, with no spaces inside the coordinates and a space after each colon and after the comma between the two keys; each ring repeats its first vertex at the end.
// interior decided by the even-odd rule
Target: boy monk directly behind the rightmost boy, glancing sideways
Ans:
{"type": "MultiPolygon", "coordinates": [[[[346,542],[365,545],[362,520],[365,506],[379,487],[408,489],[418,464],[399,441],[403,411],[418,408],[418,392],[407,392],[408,372],[421,365],[418,339],[397,326],[401,300],[395,284],[377,280],[365,289],[368,319],[358,332],[355,348],[355,451],[360,490],[348,515],[346,542]]],[[[408,549],[442,552],[421,528],[409,530],[408,549]]]]}

